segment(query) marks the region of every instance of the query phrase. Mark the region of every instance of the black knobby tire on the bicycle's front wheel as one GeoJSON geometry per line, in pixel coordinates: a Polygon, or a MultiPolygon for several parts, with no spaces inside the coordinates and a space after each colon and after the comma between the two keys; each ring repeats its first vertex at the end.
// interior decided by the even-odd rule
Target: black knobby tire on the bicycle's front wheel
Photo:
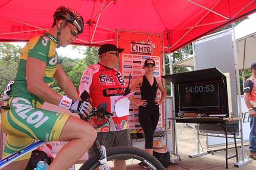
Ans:
{"type": "MultiPolygon", "coordinates": [[[[134,147],[115,147],[108,151],[106,151],[107,155],[107,161],[113,160],[113,159],[137,159],[139,161],[142,161],[147,164],[148,169],[154,169],[154,170],[163,170],[164,167],[161,164],[161,162],[154,157],[153,155],[150,155],[146,153],[145,151],[134,148],[134,147]]],[[[96,155],[93,158],[87,160],[85,163],[82,164],[82,166],[79,168],[79,170],[93,170],[96,167],[99,167],[99,156],[96,155]]],[[[136,164],[137,165],[137,164],[136,164]]],[[[131,166],[132,167],[132,166],[131,166]]],[[[126,167],[126,169],[129,169],[126,167]]],[[[133,167],[132,167],[133,169],[133,167]]]]}

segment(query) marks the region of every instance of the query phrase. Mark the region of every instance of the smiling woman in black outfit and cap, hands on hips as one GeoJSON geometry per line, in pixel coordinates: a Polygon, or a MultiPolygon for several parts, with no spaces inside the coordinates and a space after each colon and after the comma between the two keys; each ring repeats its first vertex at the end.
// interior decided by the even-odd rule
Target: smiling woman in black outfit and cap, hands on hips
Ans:
{"type": "Polygon", "coordinates": [[[153,135],[159,120],[159,105],[163,103],[166,90],[160,79],[153,76],[155,61],[146,59],[144,62],[145,75],[138,77],[131,85],[131,90],[140,87],[141,101],[134,98],[132,102],[139,106],[139,122],[145,134],[145,151],[153,155],[153,135]],[[157,89],[161,91],[161,98],[157,98],[157,89]]]}

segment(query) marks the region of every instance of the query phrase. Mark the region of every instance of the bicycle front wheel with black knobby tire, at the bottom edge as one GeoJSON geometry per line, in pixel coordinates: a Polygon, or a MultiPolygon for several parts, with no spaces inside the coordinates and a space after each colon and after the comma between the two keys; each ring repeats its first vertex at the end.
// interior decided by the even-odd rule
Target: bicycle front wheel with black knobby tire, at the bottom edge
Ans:
{"type": "MultiPolygon", "coordinates": [[[[114,159],[125,161],[126,169],[154,169],[163,170],[163,165],[153,155],[134,147],[115,147],[106,152],[108,165],[111,169],[114,167],[114,159]],[[138,165],[143,162],[144,167],[138,165]]],[[[99,156],[96,155],[92,159],[86,161],[79,170],[93,170],[99,167],[99,156]]],[[[120,170],[120,169],[118,169],[120,170]]]]}

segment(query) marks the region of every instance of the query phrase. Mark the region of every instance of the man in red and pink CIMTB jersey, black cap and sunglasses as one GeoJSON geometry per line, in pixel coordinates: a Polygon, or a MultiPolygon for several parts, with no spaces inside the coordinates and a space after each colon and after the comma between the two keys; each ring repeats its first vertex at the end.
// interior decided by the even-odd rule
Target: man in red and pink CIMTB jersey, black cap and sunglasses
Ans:
{"type": "MultiPolygon", "coordinates": [[[[131,146],[127,116],[117,117],[114,112],[116,100],[125,94],[123,77],[120,71],[115,68],[119,53],[122,53],[123,50],[114,44],[103,44],[98,50],[99,63],[86,68],[79,85],[79,95],[82,100],[90,98],[91,105],[96,108],[102,103],[107,103],[107,111],[114,114],[109,119],[110,123],[97,129],[97,139],[106,149],[131,146]]],[[[103,119],[92,118],[89,119],[89,123],[98,126],[103,124],[103,119]]],[[[94,149],[90,149],[89,157],[94,155],[94,149]]],[[[125,169],[125,162],[115,160],[115,169],[125,169]]]]}

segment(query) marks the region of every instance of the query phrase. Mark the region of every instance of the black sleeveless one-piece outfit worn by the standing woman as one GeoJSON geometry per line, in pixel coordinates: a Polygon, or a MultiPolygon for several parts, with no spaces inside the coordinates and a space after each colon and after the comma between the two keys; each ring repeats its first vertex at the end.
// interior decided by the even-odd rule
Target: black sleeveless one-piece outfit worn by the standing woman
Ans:
{"type": "Polygon", "coordinates": [[[159,120],[159,105],[156,105],[157,80],[154,77],[153,85],[148,82],[146,76],[143,76],[140,87],[141,100],[146,100],[147,106],[139,106],[139,122],[145,134],[145,149],[153,148],[153,135],[159,120]]]}

